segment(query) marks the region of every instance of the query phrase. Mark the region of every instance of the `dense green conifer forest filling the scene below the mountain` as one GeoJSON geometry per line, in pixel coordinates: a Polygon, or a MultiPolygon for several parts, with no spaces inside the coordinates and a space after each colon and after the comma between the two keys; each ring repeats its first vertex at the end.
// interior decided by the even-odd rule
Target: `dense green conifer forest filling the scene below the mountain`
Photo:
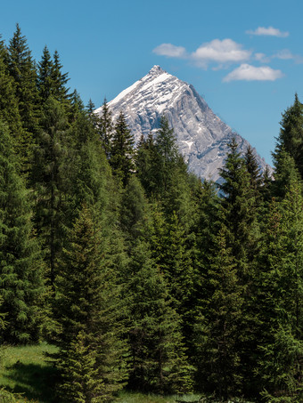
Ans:
{"type": "Polygon", "coordinates": [[[58,52],[0,42],[0,339],[58,347],[58,401],[121,388],[299,402],[303,105],[274,178],[229,144],[221,185],[187,172],[168,120],[135,148],[70,93],[58,52]]]}

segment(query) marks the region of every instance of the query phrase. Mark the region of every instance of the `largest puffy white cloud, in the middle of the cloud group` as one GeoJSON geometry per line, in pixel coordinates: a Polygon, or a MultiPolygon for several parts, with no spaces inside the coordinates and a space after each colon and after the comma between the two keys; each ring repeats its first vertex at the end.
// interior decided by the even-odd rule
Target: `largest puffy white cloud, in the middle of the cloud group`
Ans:
{"type": "Polygon", "coordinates": [[[200,67],[206,68],[209,62],[236,63],[249,60],[251,51],[242,49],[242,44],[237,44],[232,39],[214,39],[213,41],[201,44],[201,46],[191,54],[200,67]]]}

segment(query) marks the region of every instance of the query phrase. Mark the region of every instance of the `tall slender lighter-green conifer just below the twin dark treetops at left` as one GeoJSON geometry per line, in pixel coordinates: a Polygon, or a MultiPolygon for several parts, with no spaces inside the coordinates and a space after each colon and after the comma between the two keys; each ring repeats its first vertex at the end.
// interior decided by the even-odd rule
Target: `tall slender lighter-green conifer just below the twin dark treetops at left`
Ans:
{"type": "Polygon", "coordinates": [[[37,139],[31,183],[35,189],[37,235],[45,250],[45,262],[54,285],[55,268],[66,235],[64,208],[69,202],[65,165],[68,153],[67,120],[58,101],[45,101],[43,127],[37,139]]]}

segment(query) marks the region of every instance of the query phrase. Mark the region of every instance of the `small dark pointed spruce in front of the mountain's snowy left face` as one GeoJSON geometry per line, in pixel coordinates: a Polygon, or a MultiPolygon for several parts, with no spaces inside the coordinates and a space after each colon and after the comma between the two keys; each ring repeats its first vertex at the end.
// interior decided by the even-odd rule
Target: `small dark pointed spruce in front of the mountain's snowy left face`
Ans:
{"type": "Polygon", "coordinates": [[[122,112],[120,112],[111,141],[110,164],[113,173],[126,186],[127,181],[135,171],[134,164],[134,136],[127,127],[127,121],[122,112]]]}

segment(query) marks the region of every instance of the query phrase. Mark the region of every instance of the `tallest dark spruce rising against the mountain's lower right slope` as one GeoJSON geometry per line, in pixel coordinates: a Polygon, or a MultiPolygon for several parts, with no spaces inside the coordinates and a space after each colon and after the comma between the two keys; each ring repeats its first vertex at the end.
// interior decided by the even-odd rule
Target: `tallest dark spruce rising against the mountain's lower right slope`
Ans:
{"type": "Polygon", "coordinates": [[[256,257],[258,255],[258,211],[256,198],[250,186],[250,174],[244,159],[238,152],[238,145],[233,138],[229,144],[225,166],[221,177],[225,180],[220,189],[224,194],[221,201],[222,222],[225,224],[225,240],[232,250],[238,285],[242,287],[242,321],[238,332],[236,349],[241,359],[242,386],[244,393],[250,393],[251,373],[255,366],[254,351],[257,340],[254,337],[256,315],[254,311],[254,278],[256,257]]]}

